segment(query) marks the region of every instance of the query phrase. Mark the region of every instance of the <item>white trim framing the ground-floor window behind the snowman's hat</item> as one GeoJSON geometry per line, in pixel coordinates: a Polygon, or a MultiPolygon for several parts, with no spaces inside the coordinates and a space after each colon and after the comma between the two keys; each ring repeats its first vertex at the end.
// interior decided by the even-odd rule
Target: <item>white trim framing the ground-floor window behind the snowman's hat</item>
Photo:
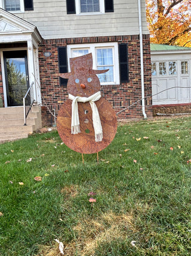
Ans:
{"type": "Polygon", "coordinates": [[[119,85],[119,53],[118,43],[97,43],[97,44],[72,44],[67,45],[67,63],[70,72],[70,58],[72,58],[72,50],[89,49],[93,55],[93,70],[97,70],[97,56],[96,49],[112,48],[113,49],[113,80],[114,82],[101,83],[101,85],[119,85]]]}

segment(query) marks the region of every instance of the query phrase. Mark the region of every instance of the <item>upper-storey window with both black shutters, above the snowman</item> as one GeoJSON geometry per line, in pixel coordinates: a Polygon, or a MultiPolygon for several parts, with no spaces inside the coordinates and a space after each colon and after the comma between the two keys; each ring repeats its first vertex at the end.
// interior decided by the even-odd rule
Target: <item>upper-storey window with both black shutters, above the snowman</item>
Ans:
{"type": "Polygon", "coordinates": [[[104,14],[112,13],[113,0],[66,0],[67,14],[104,14]]]}

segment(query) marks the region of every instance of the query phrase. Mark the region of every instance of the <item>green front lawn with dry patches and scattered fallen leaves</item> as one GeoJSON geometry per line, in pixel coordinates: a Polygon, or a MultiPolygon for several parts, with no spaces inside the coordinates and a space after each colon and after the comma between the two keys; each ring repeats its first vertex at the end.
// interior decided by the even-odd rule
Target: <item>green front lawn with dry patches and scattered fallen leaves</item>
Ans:
{"type": "Polygon", "coordinates": [[[190,127],[121,124],[99,164],[57,131],[1,144],[0,255],[191,255],[190,127]]]}

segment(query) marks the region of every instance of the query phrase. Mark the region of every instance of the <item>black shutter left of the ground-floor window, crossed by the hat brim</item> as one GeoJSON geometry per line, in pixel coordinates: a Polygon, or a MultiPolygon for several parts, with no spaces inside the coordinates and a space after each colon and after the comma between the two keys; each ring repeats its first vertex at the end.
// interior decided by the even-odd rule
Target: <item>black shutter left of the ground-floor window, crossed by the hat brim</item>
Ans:
{"type": "MultiPolygon", "coordinates": [[[[66,46],[58,47],[59,73],[67,73],[67,49],[66,46]]],[[[60,86],[67,86],[67,79],[60,77],[60,86]]]]}

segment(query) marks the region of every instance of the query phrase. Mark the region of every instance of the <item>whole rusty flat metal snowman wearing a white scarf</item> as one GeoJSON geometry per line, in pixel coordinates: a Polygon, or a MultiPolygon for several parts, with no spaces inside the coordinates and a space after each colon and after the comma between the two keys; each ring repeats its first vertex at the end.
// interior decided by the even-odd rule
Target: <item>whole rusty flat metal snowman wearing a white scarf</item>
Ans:
{"type": "Polygon", "coordinates": [[[66,146],[82,155],[98,153],[111,143],[117,129],[115,112],[101,97],[96,75],[108,70],[93,70],[91,53],[70,58],[70,70],[59,74],[68,79],[69,99],[58,112],[58,134],[66,146]]]}

